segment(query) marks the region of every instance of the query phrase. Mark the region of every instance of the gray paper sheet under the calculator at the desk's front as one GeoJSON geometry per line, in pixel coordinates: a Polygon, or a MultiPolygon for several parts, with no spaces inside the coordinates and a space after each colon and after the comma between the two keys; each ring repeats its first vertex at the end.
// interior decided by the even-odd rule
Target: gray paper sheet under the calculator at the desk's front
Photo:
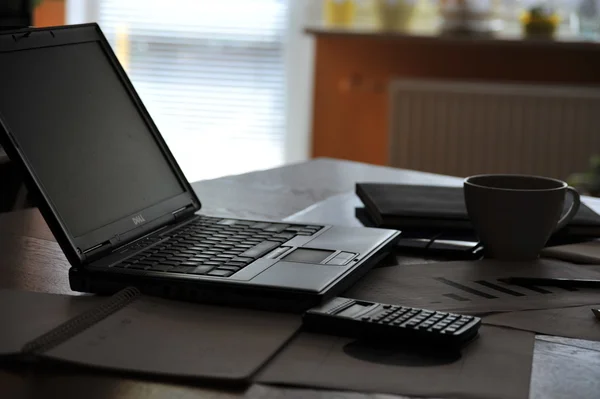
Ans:
{"type": "Polygon", "coordinates": [[[483,326],[462,356],[431,358],[301,333],[257,381],[427,397],[527,398],[534,339],[533,333],[483,326]]]}

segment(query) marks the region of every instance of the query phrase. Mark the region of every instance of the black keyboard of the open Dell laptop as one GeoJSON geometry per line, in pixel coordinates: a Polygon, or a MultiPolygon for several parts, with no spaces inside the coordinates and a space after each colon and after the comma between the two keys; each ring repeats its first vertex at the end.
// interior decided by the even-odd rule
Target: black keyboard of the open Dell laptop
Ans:
{"type": "Polygon", "coordinates": [[[311,236],[321,228],[199,216],[166,242],[113,267],[229,277],[295,236],[311,236]]]}

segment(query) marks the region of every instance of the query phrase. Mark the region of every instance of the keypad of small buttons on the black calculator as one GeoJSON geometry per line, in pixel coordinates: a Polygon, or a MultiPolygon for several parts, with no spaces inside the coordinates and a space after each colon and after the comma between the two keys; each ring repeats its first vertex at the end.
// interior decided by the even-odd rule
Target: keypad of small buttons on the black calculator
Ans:
{"type": "Polygon", "coordinates": [[[362,320],[395,327],[440,332],[442,334],[455,334],[475,320],[473,316],[435,312],[406,306],[384,305],[383,309],[383,312],[379,312],[373,317],[363,317],[362,320]]]}

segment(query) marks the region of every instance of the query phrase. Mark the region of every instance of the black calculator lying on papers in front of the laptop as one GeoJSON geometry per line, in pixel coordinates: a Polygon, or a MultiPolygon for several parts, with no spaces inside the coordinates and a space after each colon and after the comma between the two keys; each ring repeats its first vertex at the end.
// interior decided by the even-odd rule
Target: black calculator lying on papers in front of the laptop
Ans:
{"type": "Polygon", "coordinates": [[[303,316],[304,328],[312,332],[452,348],[472,341],[480,325],[479,317],[341,297],[303,316]]]}

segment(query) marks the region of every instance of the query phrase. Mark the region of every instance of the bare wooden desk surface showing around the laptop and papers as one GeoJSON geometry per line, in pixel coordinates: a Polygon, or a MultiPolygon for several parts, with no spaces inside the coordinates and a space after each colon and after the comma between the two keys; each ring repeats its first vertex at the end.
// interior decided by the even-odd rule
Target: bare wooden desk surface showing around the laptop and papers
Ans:
{"type": "MultiPolygon", "coordinates": [[[[206,213],[279,219],[332,195],[352,191],[357,181],[460,184],[460,180],[451,177],[319,159],[197,182],[193,186],[206,213]]],[[[0,215],[0,254],[0,288],[75,295],[68,285],[69,264],[37,210],[0,215]]],[[[399,257],[400,262],[406,260],[414,258],[399,257]]],[[[550,398],[561,392],[570,393],[571,397],[597,397],[600,345],[571,346],[570,340],[554,341],[557,342],[536,343],[531,397],[550,398]]],[[[0,368],[2,398],[230,398],[239,397],[244,391],[222,386],[175,385],[70,367],[3,365],[0,368]]],[[[278,394],[290,398],[327,396],[319,391],[297,393],[288,389],[278,394]]],[[[365,399],[368,397],[372,396],[364,395],[365,399]]]]}

